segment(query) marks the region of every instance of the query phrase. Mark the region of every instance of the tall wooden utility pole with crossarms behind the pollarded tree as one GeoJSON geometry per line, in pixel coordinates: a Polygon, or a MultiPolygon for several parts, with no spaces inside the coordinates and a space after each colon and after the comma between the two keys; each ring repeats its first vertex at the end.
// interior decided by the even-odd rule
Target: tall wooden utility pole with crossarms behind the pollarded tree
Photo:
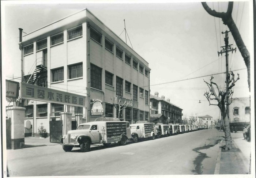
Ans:
{"type": "MultiPolygon", "coordinates": [[[[225,41],[225,46],[221,46],[222,50],[219,52],[218,51],[218,56],[219,54],[221,54],[222,56],[222,53],[225,53],[226,55],[226,91],[228,90],[229,88],[229,80],[228,80],[228,76],[229,76],[229,54],[228,52],[232,52],[237,50],[237,48],[231,48],[231,45],[229,45],[229,32],[230,31],[225,31],[225,32],[221,32],[222,34],[225,33],[225,38],[224,38],[224,41],[225,41]]],[[[229,118],[229,98],[227,98],[227,117],[229,118]]]]}

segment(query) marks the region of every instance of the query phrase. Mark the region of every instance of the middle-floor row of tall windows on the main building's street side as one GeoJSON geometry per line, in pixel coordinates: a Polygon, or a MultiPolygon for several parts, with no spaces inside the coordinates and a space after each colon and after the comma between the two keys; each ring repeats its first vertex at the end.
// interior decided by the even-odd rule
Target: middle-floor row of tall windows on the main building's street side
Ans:
{"type": "MultiPolygon", "coordinates": [[[[90,65],[90,78],[91,78],[91,87],[102,90],[101,87],[101,77],[102,77],[102,69],[97,67],[94,64],[90,65]]],[[[105,71],[105,83],[113,86],[113,76],[114,74],[105,71]]],[[[125,80],[125,91],[131,93],[131,82],[125,80]]],[[[135,84],[132,85],[133,92],[133,101],[138,101],[138,86],[135,84]]],[[[116,76],[116,95],[123,96],[123,79],[116,76]]],[[[145,99],[145,104],[148,105],[148,91],[143,88],[139,88],[139,96],[145,99]]]]}

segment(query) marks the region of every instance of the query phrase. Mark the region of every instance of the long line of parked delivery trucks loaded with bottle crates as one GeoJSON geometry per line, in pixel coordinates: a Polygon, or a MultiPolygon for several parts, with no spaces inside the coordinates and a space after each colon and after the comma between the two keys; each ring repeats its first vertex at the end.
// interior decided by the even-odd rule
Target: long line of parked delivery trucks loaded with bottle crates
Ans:
{"type": "Polygon", "coordinates": [[[90,151],[91,144],[102,143],[108,146],[118,142],[120,145],[125,145],[127,140],[136,143],[139,139],[154,140],[203,128],[203,126],[155,124],[147,121],[129,124],[129,122],[120,121],[118,118],[97,118],[94,122],[80,124],[76,130],[69,130],[67,135],[63,136],[62,147],[64,151],[80,147],[82,152],[87,152],[90,151]]]}

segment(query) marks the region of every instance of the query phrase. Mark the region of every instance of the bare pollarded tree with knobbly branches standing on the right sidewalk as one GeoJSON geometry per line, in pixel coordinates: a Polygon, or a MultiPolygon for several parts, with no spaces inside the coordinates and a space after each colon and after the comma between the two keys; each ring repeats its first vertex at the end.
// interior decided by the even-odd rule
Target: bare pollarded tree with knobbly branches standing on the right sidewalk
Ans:
{"type": "Polygon", "coordinates": [[[226,140],[225,150],[231,149],[231,143],[232,143],[227,107],[225,105],[230,105],[229,98],[232,98],[232,95],[234,92],[231,89],[232,87],[235,86],[235,83],[237,82],[237,80],[239,80],[239,74],[237,75],[238,77],[235,80],[234,73],[232,71],[228,73],[227,80],[225,81],[227,85],[225,90],[220,90],[218,84],[212,81],[212,79],[214,79],[213,76],[211,76],[210,83],[204,81],[207,84],[208,88],[210,89],[210,91],[206,91],[204,93],[204,96],[209,101],[209,105],[218,106],[219,109],[221,110],[221,121],[223,123],[223,130],[225,132],[225,140],[226,140]],[[217,88],[218,93],[215,91],[215,88],[217,88]],[[217,103],[216,102],[215,104],[211,103],[212,100],[217,101],[217,103]]]}

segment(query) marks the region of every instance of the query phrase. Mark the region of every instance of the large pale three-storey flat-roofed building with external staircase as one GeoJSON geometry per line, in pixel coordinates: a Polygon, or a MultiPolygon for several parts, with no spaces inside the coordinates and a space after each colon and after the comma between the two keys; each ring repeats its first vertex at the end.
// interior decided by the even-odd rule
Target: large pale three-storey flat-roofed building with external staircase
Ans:
{"type": "Polygon", "coordinates": [[[121,120],[132,124],[149,119],[147,61],[89,10],[26,34],[19,47],[23,82],[86,97],[85,107],[25,99],[25,122],[31,121],[34,133],[41,123],[49,133],[49,121],[59,120],[61,111],[71,112],[72,120],[83,114],[83,122],[118,117],[117,103],[125,100],[121,120]],[[95,101],[103,106],[100,115],[92,114],[95,101]]]}

